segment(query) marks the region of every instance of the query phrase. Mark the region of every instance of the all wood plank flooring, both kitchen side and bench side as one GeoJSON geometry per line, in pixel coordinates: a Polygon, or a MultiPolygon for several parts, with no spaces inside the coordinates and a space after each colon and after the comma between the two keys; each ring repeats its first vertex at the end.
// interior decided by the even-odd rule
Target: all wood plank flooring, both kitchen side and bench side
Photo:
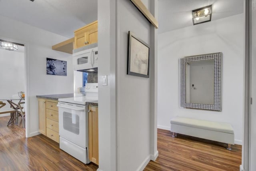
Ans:
{"type": "MultiPolygon", "coordinates": [[[[0,117],[1,171],[96,171],[97,165],[78,161],[44,135],[26,138],[22,123],[6,126],[0,117]]],[[[144,171],[239,171],[241,146],[208,141],[158,129],[158,158],[144,171]]],[[[132,164],[132,163],[131,163],[132,164]]]]}

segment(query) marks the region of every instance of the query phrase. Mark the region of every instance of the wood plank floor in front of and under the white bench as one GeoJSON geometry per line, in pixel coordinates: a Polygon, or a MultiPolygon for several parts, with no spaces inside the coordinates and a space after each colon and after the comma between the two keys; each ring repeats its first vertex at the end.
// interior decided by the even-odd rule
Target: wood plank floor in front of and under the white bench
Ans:
{"type": "Polygon", "coordinates": [[[158,158],[150,161],[144,171],[239,171],[242,146],[178,134],[158,129],[158,158]]]}

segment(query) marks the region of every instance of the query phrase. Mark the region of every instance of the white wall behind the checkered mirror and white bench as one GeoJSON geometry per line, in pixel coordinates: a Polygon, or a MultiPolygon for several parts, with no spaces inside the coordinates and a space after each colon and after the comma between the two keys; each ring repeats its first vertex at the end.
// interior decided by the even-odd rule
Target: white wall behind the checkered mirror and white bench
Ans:
{"type": "Polygon", "coordinates": [[[243,14],[174,30],[158,36],[158,127],[170,129],[176,115],[229,122],[235,143],[243,128],[243,14]],[[184,56],[222,52],[222,111],[179,108],[179,63],[184,56]]]}

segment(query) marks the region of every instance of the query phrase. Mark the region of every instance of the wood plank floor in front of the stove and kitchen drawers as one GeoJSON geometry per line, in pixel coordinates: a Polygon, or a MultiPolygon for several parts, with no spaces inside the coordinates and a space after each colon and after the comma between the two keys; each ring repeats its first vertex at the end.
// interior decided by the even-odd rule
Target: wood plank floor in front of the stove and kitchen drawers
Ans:
{"type": "Polygon", "coordinates": [[[25,137],[22,123],[6,126],[9,116],[0,117],[1,171],[96,171],[97,165],[78,161],[44,135],[25,137]]]}

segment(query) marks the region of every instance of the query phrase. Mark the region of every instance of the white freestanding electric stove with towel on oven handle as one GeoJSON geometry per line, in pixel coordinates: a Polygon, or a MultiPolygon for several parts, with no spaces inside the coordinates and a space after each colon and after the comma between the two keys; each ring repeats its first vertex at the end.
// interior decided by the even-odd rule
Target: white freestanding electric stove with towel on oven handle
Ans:
{"type": "Polygon", "coordinates": [[[58,99],[60,149],[89,163],[87,101],[98,100],[98,83],[86,84],[86,95],[58,99]]]}

